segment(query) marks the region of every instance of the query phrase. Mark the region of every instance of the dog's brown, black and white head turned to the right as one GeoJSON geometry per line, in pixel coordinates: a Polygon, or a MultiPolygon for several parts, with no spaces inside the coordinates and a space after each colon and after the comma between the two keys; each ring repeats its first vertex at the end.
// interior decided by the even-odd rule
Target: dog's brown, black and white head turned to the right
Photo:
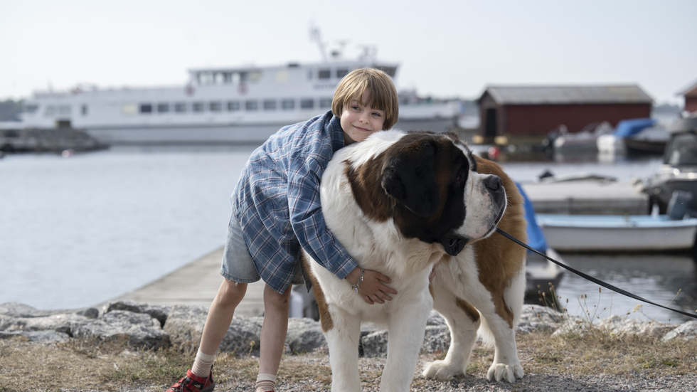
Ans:
{"type": "Polygon", "coordinates": [[[454,134],[408,132],[368,164],[368,173],[348,173],[363,211],[393,218],[405,237],[440,243],[449,255],[493,233],[506,209],[501,179],[477,173],[454,134]],[[366,193],[366,182],[378,181],[380,191],[366,193]]]}

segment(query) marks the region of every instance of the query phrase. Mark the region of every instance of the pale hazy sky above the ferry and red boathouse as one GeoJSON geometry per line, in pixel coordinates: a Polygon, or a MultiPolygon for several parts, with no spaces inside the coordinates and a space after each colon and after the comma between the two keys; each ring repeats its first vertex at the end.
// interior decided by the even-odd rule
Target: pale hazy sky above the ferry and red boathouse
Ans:
{"type": "Polygon", "coordinates": [[[0,0],[0,100],[35,90],[184,85],[192,68],[344,58],[400,64],[398,88],[637,84],[682,104],[697,83],[695,0],[0,0]]]}

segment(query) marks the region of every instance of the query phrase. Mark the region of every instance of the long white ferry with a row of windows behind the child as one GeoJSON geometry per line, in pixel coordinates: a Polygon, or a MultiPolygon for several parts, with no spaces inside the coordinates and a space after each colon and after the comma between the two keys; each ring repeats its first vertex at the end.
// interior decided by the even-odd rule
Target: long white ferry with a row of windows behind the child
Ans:
{"type": "MultiPolygon", "coordinates": [[[[162,88],[97,88],[35,92],[26,100],[22,127],[84,129],[107,144],[260,144],[284,125],[331,109],[346,73],[373,67],[395,85],[397,63],[357,60],[281,66],[189,70],[188,83],[162,88]]],[[[459,101],[423,100],[400,92],[400,129],[452,129],[459,101]]]]}

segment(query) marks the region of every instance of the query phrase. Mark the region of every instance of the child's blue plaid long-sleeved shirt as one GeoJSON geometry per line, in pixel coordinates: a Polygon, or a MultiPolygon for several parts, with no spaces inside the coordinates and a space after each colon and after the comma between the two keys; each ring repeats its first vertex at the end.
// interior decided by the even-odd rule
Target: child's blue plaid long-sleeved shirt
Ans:
{"type": "Polygon", "coordinates": [[[281,128],[252,152],[233,194],[233,211],[262,280],[277,292],[290,284],[300,247],[344,279],[355,260],[326,228],[319,182],[344,130],[331,111],[281,128]]]}

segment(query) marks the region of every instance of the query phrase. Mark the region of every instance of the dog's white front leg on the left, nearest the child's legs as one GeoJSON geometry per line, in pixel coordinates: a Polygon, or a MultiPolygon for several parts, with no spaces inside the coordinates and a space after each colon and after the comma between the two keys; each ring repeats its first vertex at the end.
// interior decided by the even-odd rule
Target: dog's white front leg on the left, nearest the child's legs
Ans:
{"type": "Polygon", "coordinates": [[[358,377],[358,339],[361,337],[361,319],[344,310],[331,311],[334,326],[324,332],[329,346],[331,391],[360,392],[358,377]]]}

